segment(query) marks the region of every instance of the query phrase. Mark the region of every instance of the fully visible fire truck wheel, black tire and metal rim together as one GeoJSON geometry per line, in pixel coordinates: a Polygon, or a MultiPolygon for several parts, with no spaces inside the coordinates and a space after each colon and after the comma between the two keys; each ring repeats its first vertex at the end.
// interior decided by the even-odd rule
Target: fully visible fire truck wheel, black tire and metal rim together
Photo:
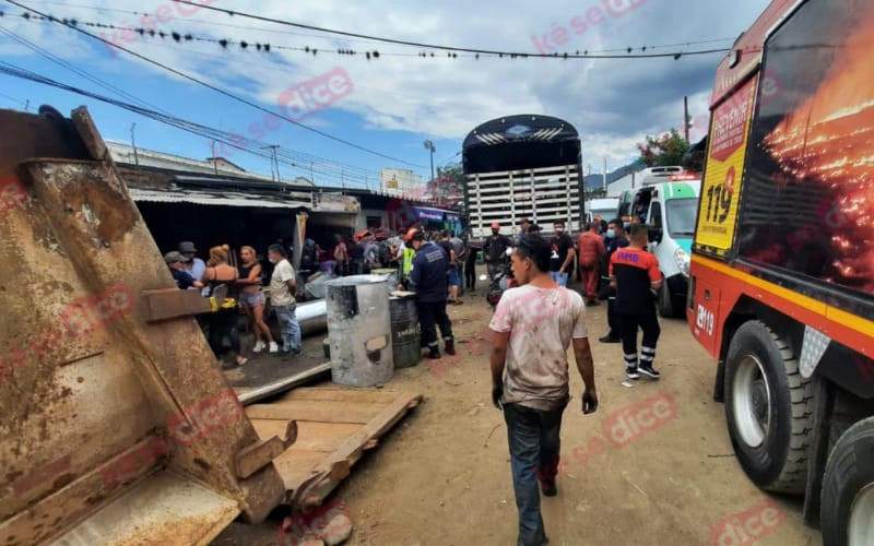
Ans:
{"type": "Polygon", "coordinates": [[[760,488],[804,492],[812,396],[783,340],[757,320],[737,329],[725,360],[725,420],[741,466],[760,488]]]}

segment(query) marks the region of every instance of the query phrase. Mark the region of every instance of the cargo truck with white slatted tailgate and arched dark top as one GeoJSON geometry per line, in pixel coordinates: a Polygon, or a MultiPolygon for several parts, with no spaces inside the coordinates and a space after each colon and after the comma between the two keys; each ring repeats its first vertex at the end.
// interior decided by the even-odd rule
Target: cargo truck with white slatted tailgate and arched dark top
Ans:
{"type": "Polygon", "coordinates": [[[556,221],[567,233],[581,229],[580,139],[567,121],[533,115],[486,121],[464,139],[462,157],[473,239],[488,237],[495,222],[515,235],[523,217],[542,235],[556,221]]]}

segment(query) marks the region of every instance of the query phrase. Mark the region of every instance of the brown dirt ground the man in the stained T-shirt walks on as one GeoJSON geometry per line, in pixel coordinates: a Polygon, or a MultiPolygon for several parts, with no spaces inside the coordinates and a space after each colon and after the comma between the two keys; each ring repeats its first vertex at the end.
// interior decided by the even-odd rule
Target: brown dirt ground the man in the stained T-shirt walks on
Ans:
{"type": "MultiPolygon", "coordinates": [[[[422,392],[425,401],[333,494],[353,520],[346,544],[516,544],[506,426],[491,404],[487,351],[477,339],[491,309],[482,287],[463,299],[449,307],[461,357],[446,369],[423,361],[397,370],[386,388],[422,392]]],[[[541,499],[550,544],[822,544],[804,525],[799,499],[759,491],[733,458],[723,406],[711,399],[714,363],[685,321],[661,322],[662,379],[627,388],[619,345],[597,341],[606,332],[605,314],[603,305],[587,310],[601,402],[595,414],[580,411],[582,381],[569,355],[565,462],[558,495],[541,499]],[[651,412],[641,418],[641,408],[651,412]],[[744,524],[749,533],[739,530],[744,524]]],[[[232,524],[213,544],[275,544],[282,515],[257,526],[232,524]]]]}

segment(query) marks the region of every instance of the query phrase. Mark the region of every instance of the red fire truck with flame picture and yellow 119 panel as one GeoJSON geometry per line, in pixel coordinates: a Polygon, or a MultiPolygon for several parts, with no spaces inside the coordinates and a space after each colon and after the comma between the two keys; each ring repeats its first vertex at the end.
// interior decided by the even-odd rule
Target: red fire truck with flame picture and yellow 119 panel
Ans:
{"type": "Polygon", "coordinates": [[[720,63],[686,313],[741,466],[874,544],[874,2],[773,0],[720,63]]]}

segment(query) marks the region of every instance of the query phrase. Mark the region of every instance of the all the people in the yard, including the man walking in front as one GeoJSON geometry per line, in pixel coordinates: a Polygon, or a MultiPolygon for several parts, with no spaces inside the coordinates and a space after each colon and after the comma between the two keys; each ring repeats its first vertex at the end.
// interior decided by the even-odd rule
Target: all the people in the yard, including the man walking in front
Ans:
{"type": "MultiPolygon", "coordinates": [[[[515,237],[500,234],[500,228],[493,224],[492,236],[483,244],[485,263],[489,274],[509,265],[518,286],[504,293],[489,323],[494,332],[492,401],[504,412],[508,430],[519,544],[544,544],[540,494],[557,494],[562,415],[570,400],[567,351],[572,346],[584,383],[582,412],[595,412],[598,393],[586,309],[606,299],[610,331],[599,341],[622,343],[629,379],[640,375],[659,379],[653,359],[660,335],[656,294],[662,278],[658,260],[647,252],[648,227],[639,222],[595,218],[576,241],[565,232],[563,222],[553,225],[554,235],[548,240],[528,218],[520,222],[515,237]],[[581,283],[579,292],[567,288],[575,266],[581,283]],[[532,300],[542,305],[532,307],[532,300]],[[643,332],[639,357],[638,330],[643,332]]],[[[346,275],[397,268],[397,288],[411,290],[415,297],[426,358],[436,359],[441,357],[440,341],[447,354],[456,354],[447,306],[460,305],[464,287],[475,286],[479,250],[451,230],[427,232],[417,225],[401,236],[368,229],[355,234],[351,241],[336,235],[329,252],[307,239],[302,270],[318,268],[346,275]]],[[[226,336],[237,364],[246,363],[236,333],[237,304],[251,322],[253,351],[280,352],[264,323],[264,285],[269,285],[270,302],[280,323],[281,351],[299,353],[296,275],[283,245],[271,245],[267,251],[272,264],[269,275],[251,247],[240,249],[239,260],[234,260],[237,266],[231,263],[227,246],[211,248],[206,262],[197,252],[193,244],[184,241],[165,256],[165,261],[181,289],[202,290],[209,296],[220,285],[228,287],[227,296],[216,301],[217,309],[206,319],[210,345],[216,355],[226,336]]]]}

